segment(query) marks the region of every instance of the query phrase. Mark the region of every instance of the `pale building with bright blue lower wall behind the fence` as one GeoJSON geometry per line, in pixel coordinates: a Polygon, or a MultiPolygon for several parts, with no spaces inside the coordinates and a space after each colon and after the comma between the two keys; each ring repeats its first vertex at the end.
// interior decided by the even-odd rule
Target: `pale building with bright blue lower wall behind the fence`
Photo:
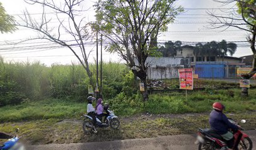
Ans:
{"type": "Polygon", "coordinates": [[[182,46],[176,58],[191,59],[191,67],[199,78],[233,78],[236,76],[236,68],[244,66],[242,58],[231,56],[195,56],[194,46],[182,46]]]}

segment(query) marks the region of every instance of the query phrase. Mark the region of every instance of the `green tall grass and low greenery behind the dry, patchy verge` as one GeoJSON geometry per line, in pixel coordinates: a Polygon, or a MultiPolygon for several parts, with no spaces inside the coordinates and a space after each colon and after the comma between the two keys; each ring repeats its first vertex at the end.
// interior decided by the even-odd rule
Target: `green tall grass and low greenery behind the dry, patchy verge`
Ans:
{"type": "MultiPolygon", "coordinates": [[[[95,72],[96,66],[90,65],[95,72]]],[[[144,103],[134,74],[124,64],[103,63],[103,68],[104,103],[109,103],[119,116],[202,113],[210,111],[215,101],[226,104],[227,111],[234,113],[256,110],[256,89],[251,89],[250,96],[242,98],[240,89],[215,89],[230,84],[218,81],[203,81],[205,90],[189,91],[188,98],[184,91],[163,91],[151,94],[144,103]]],[[[81,65],[47,67],[39,62],[4,63],[1,59],[0,70],[1,123],[78,118],[86,111],[89,79],[81,65]]]]}

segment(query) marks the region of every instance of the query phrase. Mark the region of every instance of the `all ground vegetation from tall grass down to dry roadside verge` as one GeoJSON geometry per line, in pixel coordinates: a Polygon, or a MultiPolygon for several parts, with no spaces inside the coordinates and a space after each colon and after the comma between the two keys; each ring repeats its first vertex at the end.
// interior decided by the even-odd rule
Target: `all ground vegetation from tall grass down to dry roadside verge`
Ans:
{"type": "MultiPolygon", "coordinates": [[[[95,71],[95,65],[90,65],[95,71]]],[[[104,63],[103,68],[104,103],[109,103],[110,109],[120,117],[120,129],[83,134],[80,116],[86,112],[89,79],[82,66],[53,64],[47,67],[40,63],[4,63],[2,59],[0,131],[14,134],[15,128],[20,128],[20,135],[31,144],[190,134],[198,127],[208,126],[208,114],[215,101],[225,104],[232,118],[247,119],[247,129],[255,127],[254,88],[244,98],[240,96],[240,89],[235,88],[236,84],[202,81],[205,89],[188,91],[187,98],[184,91],[163,90],[150,94],[144,103],[134,75],[124,64],[104,63]],[[216,89],[227,85],[234,88],[216,89]]],[[[95,82],[95,76],[93,78],[95,82]]],[[[169,86],[177,87],[178,82],[169,86]]]]}

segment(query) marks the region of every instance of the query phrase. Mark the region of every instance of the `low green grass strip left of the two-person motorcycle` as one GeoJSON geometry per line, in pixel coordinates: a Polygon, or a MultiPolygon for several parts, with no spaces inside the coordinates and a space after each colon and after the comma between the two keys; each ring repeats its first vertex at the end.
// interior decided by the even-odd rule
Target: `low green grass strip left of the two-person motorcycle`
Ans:
{"type": "Polygon", "coordinates": [[[0,121],[29,121],[50,118],[74,118],[85,113],[85,103],[75,103],[62,99],[23,103],[18,106],[0,108],[0,121]]]}

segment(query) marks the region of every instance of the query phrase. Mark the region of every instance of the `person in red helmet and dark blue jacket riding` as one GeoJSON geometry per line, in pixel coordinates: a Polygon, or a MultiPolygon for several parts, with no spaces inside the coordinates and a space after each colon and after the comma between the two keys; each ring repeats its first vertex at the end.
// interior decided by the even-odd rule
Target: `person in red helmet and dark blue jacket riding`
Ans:
{"type": "Polygon", "coordinates": [[[215,131],[215,133],[220,134],[221,137],[227,141],[228,148],[232,149],[234,146],[234,138],[233,134],[228,131],[228,129],[237,131],[240,126],[236,126],[228,121],[227,116],[222,112],[224,109],[225,106],[220,102],[213,103],[213,111],[210,113],[209,123],[211,129],[215,131]]]}

